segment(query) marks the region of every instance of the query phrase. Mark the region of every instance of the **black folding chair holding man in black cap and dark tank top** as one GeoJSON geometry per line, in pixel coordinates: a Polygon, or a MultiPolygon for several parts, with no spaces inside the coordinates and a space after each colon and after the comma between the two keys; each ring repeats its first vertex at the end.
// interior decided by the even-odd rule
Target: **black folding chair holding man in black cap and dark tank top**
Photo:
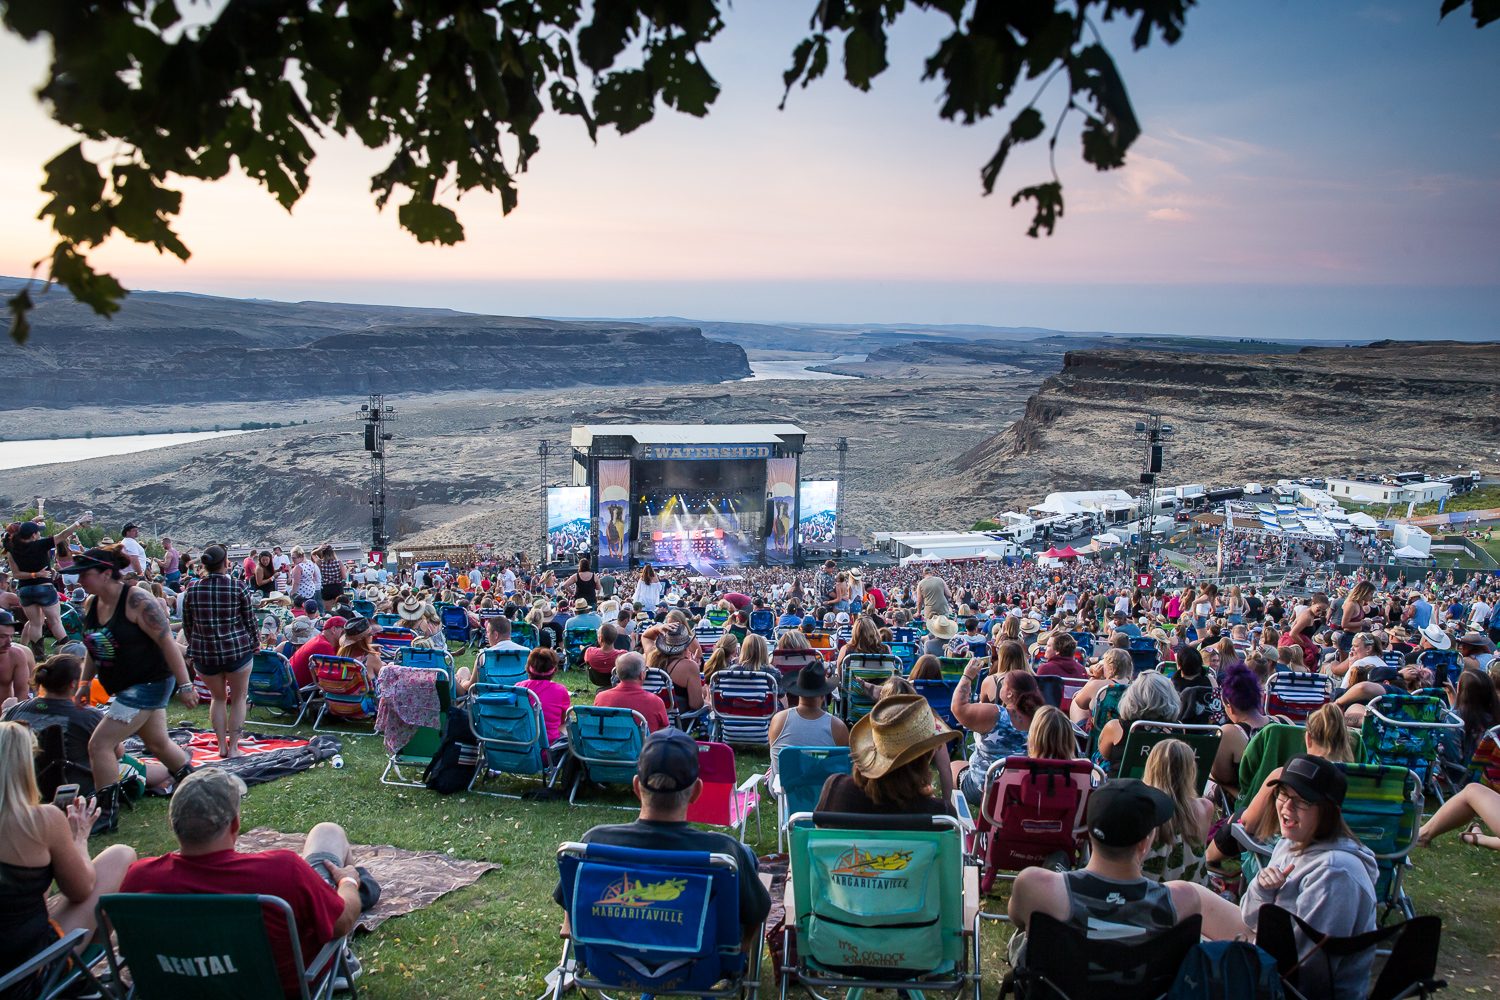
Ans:
{"type": "MultiPolygon", "coordinates": [[[[981,919],[1004,918],[981,913],[975,928],[981,919]]],[[[1014,978],[1005,979],[1000,997],[1014,987],[1024,1000],[1158,1000],[1172,990],[1202,933],[1203,918],[1194,913],[1172,930],[1126,945],[1084,936],[1048,913],[1034,912],[1026,924],[1024,958],[1014,978]]]]}

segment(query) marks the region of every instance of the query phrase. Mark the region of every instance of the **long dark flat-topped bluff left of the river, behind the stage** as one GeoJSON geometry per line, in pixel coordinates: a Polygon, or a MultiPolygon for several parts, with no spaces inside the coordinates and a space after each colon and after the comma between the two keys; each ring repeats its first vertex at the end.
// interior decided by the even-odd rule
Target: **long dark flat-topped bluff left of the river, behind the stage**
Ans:
{"type": "Polygon", "coordinates": [[[132,294],[114,319],[42,297],[0,409],[312,399],[363,393],[699,384],[746,378],[738,345],[694,327],[446,309],[132,294]]]}

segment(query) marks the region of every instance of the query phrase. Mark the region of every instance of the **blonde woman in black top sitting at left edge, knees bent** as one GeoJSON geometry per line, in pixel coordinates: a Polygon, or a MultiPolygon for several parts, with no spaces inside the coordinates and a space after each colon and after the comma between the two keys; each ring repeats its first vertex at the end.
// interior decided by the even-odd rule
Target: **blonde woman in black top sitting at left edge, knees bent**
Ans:
{"type": "MultiPolygon", "coordinates": [[[[88,831],[99,817],[93,799],[66,811],[44,805],[36,790],[36,736],[20,723],[0,723],[0,969],[10,972],[57,939],[94,930],[99,897],[120,891],[135,861],[128,844],[88,858],[88,831]],[[57,892],[48,894],[52,882],[57,892]]],[[[86,942],[87,943],[87,942],[86,942]]],[[[18,984],[30,997],[42,976],[18,984]]]]}

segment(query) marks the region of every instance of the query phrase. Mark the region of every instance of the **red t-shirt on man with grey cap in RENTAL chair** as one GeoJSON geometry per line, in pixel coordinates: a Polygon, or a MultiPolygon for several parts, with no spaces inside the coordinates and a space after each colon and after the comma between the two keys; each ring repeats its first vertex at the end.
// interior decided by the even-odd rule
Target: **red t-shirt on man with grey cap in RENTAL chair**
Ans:
{"type": "MultiPolygon", "coordinates": [[[[258,855],[218,850],[192,858],[172,852],[160,858],[142,858],[124,874],[120,892],[280,897],[297,921],[303,963],[312,961],[333,940],[333,925],[344,915],[339,891],[290,850],[258,855]]],[[[286,937],[286,918],[280,910],[266,909],[266,937],[276,954],[282,988],[298,996],[297,966],[291,957],[291,939],[286,937]]]]}

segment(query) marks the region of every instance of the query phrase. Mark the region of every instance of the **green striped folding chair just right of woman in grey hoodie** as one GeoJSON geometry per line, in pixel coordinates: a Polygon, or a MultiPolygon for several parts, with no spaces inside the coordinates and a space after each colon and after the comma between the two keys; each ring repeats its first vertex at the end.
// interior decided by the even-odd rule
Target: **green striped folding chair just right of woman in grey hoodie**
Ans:
{"type": "Polygon", "coordinates": [[[1344,822],[1359,843],[1376,855],[1380,868],[1376,880],[1376,898],[1384,903],[1380,921],[1384,922],[1394,910],[1410,921],[1416,916],[1416,909],[1401,886],[1401,874],[1422,826],[1422,784],[1407,768],[1372,763],[1338,766],[1348,781],[1344,792],[1344,822]]]}

